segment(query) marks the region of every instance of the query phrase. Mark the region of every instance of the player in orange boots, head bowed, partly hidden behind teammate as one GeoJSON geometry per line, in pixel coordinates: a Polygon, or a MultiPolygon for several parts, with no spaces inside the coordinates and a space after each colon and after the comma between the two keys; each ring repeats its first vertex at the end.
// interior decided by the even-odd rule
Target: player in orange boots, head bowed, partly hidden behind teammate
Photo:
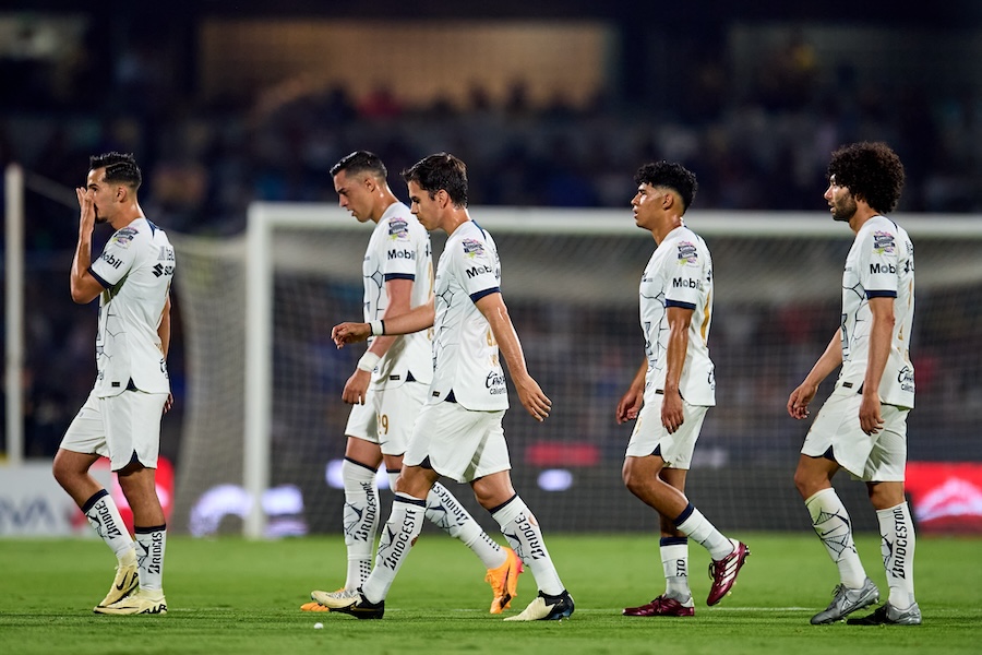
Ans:
{"type": "MultiPolygon", "coordinates": [[[[361,223],[375,224],[364,253],[364,319],[391,319],[426,305],[433,293],[430,235],[398,201],[387,170],[374,154],[357,151],[331,169],[339,204],[361,223]]],[[[379,532],[375,474],[385,463],[392,488],[403,468],[412,424],[433,378],[431,334],[376,336],[348,378],[343,398],[352,406],[345,428],[345,545],[348,572],[343,591],[355,595],[371,571],[379,532]]],[[[426,495],[426,516],[480,558],[491,584],[491,614],[500,614],[517,593],[522,562],[481,528],[456,498],[436,483],[426,495]]],[[[321,594],[323,592],[314,592],[321,594]]],[[[318,603],[301,609],[323,611],[318,603]]]]}

